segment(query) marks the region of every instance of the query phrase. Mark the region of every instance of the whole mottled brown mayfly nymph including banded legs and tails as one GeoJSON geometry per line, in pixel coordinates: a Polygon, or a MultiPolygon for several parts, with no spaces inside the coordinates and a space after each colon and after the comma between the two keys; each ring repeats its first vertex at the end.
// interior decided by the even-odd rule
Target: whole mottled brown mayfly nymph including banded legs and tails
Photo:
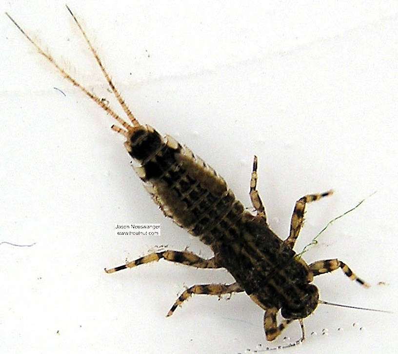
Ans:
{"type": "Polygon", "coordinates": [[[224,179],[187,147],[169,136],[163,138],[152,127],[139,123],[105,71],[78,20],[70,10],[69,12],[130,123],[120,118],[103,100],[82,87],[8,14],[7,16],[66,79],[78,86],[119,122],[121,127],[113,125],[112,129],[126,138],[124,146],[137,162],[138,167],[134,167],[135,171],[153,200],[166,216],[171,217],[190,234],[198,236],[214,253],[214,257],[204,259],[188,251],[157,252],[119,267],[106,269],[107,273],[158,261],[161,258],[197,268],[225,268],[235,278],[235,283],[194,285],[179,296],[167,315],[172,315],[176,308],[193,294],[222,295],[245,292],[264,310],[264,330],[268,340],[274,340],[290,322],[299,320],[301,339],[292,345],[304,339],[303,318],[312,314],[320,302],[318,288],[311,284],[314,276],[341,268],[345,275],[367,286],[338,259],[306,264],[293,251],[303,225],[306,204],[329,196],[332,191],[300,198],[294,208],[290,234],[285,240],[280,239],[267,224],[265,209],[257,191],[257,157],[254,157],[250,181],[250,198],[256,210],[256,215],[253,215],[244,209],[242,203],[228,189],[224,179]],[[279,310],[285,319],[278,325],[276,315],[279,310]]]}

